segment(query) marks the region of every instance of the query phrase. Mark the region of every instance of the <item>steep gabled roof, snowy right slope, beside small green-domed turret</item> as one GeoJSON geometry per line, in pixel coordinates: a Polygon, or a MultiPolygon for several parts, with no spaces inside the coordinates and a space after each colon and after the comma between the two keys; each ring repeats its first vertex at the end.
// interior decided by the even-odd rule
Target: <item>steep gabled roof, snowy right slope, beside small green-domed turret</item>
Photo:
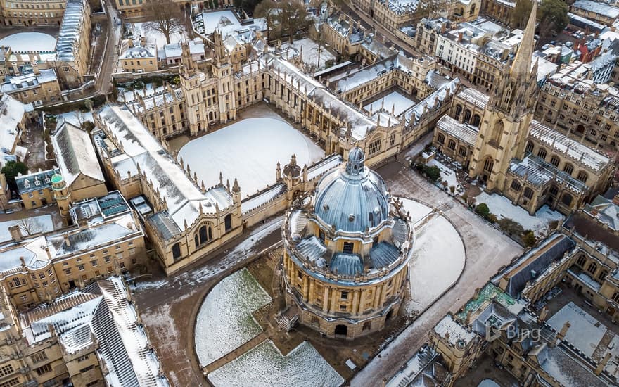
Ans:
{"type": "Polygon", "coordinates": [[[105,182],[88,132],[63,122],[51,138],[60,175],[71,185],[79,175],[105,182]]]}

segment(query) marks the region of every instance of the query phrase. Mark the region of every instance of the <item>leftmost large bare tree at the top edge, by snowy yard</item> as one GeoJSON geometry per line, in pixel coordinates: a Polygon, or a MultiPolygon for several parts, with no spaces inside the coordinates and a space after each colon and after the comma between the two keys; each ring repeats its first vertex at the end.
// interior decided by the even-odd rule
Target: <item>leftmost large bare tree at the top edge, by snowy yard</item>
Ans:
{"type": "Polygon", "coordinates": [[[183,32],[183,15],[179,4],[173,0],[148,0],[144,5],[144,17],[148,22],[144,28],[150,31],[161,32],[165,36],[165,42],[170,44],[170,35],[175,32],[183,32]]]}

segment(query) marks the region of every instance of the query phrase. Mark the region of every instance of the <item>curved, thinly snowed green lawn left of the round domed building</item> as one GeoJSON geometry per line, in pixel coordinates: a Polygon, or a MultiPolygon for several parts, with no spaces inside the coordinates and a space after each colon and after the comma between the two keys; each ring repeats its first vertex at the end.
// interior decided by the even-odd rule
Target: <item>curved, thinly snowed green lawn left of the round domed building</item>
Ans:
{"type": "Polygon", "coordinates": [[[196,353],[205,366],[247,342],[262,329],[251,312],[271,301],[248,269],[230,274],[206,296],[196,319],[196,353]]]}

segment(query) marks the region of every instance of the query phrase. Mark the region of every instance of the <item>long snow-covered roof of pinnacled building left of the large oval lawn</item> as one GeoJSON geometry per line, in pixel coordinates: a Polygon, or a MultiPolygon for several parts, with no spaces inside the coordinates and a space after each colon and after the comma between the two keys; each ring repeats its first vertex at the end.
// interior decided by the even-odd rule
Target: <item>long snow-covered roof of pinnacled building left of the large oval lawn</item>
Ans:
{"type": "Polygon", "coordinates": [[[216,207],[224,210],[232,205],[231,194],[222,186],[207,189],[203,194],[126,107],[106,105],[97,116],[120,148],[110,159],[120,177],[140,172],[145,175],[153,189],[159,189],[161,198],[165,198],[170,220],[179,229],[184,229],[185,222],[191,225],[198,219],[200,205],[205,213],[216,213],[216,207]]]}

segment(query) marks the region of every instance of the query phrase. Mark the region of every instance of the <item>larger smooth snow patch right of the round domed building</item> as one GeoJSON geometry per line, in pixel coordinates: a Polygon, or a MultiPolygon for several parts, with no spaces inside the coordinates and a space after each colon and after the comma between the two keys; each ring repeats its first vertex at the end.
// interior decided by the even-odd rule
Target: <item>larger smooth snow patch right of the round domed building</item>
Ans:
{"type": "Polygon", "coordinates": [[[433,217],[418,230],[409,269],[409,310],[424,310],[433,303],[458,280],[465,260],[464,243],[445,217],[433,217]]]}

